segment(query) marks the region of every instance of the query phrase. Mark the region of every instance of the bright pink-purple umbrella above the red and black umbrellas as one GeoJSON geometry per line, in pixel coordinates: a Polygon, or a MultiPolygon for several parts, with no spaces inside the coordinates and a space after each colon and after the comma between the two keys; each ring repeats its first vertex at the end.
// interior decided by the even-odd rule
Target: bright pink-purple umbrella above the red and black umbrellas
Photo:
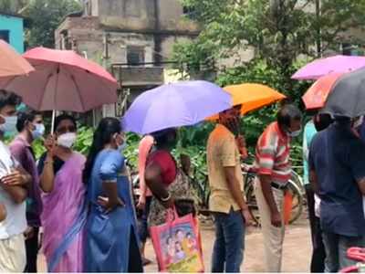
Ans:
{"type": "Polygon", "coordinates": [[[320,58],[297,70],[292,79],[319,79],[329,73],[346,73],[365,67],[365,57],[337,55],[320,58]]]}

